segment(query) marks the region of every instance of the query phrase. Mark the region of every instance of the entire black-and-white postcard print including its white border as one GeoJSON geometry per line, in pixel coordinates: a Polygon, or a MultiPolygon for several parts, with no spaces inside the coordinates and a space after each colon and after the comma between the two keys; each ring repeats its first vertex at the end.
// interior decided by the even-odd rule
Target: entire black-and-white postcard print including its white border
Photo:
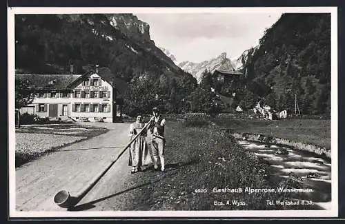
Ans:
{"type": "Polygon", "coordinates": [[[8,8],[11,217],[335,217],[337,8],[8,8]]]}

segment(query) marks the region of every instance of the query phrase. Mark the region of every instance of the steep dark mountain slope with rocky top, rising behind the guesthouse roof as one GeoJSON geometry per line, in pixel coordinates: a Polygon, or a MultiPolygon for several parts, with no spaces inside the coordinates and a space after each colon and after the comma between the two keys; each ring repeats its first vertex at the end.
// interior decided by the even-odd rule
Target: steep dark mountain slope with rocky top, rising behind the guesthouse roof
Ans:
{"type": "Polygon", "coordinates": [[[17,70],[63,73],[73,63],[81,73],[99,63],[127,81],[149,70],[185,73],[134,14],[18,14],[15,20],[17,70]]]}

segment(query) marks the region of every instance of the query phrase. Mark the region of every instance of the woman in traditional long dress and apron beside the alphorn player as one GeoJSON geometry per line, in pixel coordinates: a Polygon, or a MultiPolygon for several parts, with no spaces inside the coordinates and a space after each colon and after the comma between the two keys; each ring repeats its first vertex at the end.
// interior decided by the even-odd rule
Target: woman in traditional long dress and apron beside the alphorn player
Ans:
{"type": "MultiPolygon", "coordinates": [[[[137,121],[130,124],[129,136],[130,141],[144,128],[145,123],[142,121],[142,116],[137,116],[137,121]]],[[[146,129],[146,128],[145,128],[146,129]]],[[[142,167],[150,165],[151,157],[148,151],[148,144],[146,142],[147,130],[141,132],[141,134],[130,145],[129,163],[132,166],[130,171],[132,174],[138,172],[142,167]]]]}

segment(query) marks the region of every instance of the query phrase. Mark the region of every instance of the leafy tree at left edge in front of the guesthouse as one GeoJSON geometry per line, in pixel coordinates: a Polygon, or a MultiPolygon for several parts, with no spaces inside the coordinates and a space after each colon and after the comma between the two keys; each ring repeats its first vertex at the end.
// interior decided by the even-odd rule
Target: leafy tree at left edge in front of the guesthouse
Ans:
{"type": "Polygon", "coordinates": [[[16,80],[15,81],[15,107],[23,108],[32,103],[36,95],[28,89],[28,82],[16,80]]]}

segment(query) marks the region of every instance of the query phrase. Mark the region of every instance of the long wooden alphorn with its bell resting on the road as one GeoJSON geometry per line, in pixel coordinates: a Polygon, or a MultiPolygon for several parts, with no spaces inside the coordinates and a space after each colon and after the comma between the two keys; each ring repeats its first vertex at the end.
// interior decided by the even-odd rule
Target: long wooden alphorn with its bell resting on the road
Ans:
{"type": "Polygon", "coordinates": [[[135,141],[135,139],[137,139],[137,137],[141,134],[141,132],[146,130],[146,128],[148,127],[149,124],[150,124],[150,122],[148,122],[144,126],[144,128],[141,129],[141,131],[130,141],[130,143],[128,143],[128,145],[126,145],[126,147],[124,148],[124,150],[122,150],[122,152],[119,154],[119,156],[117,156],[117,158],[115,160],[111,161],[111,163],[106,167],[106,169],[99,172],[99,174],[97,176],[95,176],[95,178],[92,179],[85,187],[83,187],[83,189],[81,191],[79,191],[75,196],[71,196],[70,192],[68,192],[67,190],[61,190],[61,191],[57,192],[57,194],[55,194],[54,202],[57,205],[59,205],[60,207],[64,207],[64,208],[72,208],[75,205],[77,205],[77,203],[81,200],[81,198],[83,198],[83,196],[85,196],[92,189],[92,187],[96,185],[96,183],[101,179],[101,177],[104,174],[106,174],[106,172],[108,172],[110,167],[112,167],[112,165],[120,158],[120,156],[122,154],[124,154],[126,149],[128,147],[130,147],[130,145],[133,143],[133,141],[135,141]]]}

